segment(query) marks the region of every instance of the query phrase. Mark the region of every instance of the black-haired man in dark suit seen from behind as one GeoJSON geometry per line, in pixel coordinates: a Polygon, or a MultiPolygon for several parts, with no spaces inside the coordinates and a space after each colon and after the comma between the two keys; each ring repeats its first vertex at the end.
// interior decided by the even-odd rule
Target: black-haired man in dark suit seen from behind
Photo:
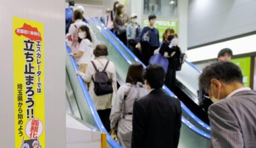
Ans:
{"type": "Polygon", "coordinates": [[[178,147],[181,103],[162,90],[165,78],[162,67],[148,66],[143,77],[150,94],[134,102],[131,147],[178,147]]]}

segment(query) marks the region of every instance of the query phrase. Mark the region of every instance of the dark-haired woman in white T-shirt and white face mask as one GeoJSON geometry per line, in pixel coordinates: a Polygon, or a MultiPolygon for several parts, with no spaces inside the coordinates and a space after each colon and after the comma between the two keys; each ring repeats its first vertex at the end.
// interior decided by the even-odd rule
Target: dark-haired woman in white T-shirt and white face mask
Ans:
{"type": "Polygon", "coordinates": [[[71,56],[78,59],[77,64],[79,66],[79,71],[86,73],[86,67],[90,61],[94,59],[94,48],[92,45],[92,37],[90,34],[90,29],[88,26],[81,26],[78,32],[79,37],[79,48],[78,52],[71,52],[71,56]]]}

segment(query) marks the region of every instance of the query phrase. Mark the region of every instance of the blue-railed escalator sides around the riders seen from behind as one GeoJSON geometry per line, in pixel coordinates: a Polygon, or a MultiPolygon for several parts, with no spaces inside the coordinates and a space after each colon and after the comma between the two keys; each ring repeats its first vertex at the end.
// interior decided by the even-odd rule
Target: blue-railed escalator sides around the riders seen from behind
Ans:
{"type": "MultiPolygon", "coordinates": [[[[104,43],[108,46],[108,59],[115,63],[119,83],[124,82],[129,65],[135,61],[140,62],[139,59],[129,53],[129,50],[123,48],[120,41],[111,36],[98,20],[90,19],[89,22],[90,27],[96,33],[98,43],[104,43]]],[[[67,52],[69,50],[67,47],[67,52]]],[[[86,85],[82,78],[76,75],[75,71],[77,71],[77,65],[75,65],[73,57],[69,57],[66,54],[66,75],[69,78],[69,83],[71,83],[71,87],[66,89],[66,94],[67,96],[73,96],[67,100],[67,105],[69,106],[67,112],[75,114],[77,118],[81,118],[84,122],[91,124],[98,131],[106,133],[86,85]],[[72,94],[70,92],[73,95],[70,95],[72,94]]],[[[176,97],[166,87],[164,87],[164,90],[170,96],[176,97]]],[[[183,124],[181,126],[179,147],[210,147],[210,127],[197,118],[182,102],[181,106],[183,108],[183,124]]],[[[120,147],[109,135],[107,135],[107,141],[108,147],[120,147]]]]}

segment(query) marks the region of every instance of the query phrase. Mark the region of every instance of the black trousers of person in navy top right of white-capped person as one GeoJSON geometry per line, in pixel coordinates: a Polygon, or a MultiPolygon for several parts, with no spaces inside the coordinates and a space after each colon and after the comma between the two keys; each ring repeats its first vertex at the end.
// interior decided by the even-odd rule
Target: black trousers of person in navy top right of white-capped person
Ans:
{"type": "Polygon", "coordinates": [[[156,50],[157,46],[150,46],[148,42],[141,43],[141,49],[142,49],[142,62],[148,66],[148,63],[150,61],[150,58],[154,54],[154,50],[156,50]]]}

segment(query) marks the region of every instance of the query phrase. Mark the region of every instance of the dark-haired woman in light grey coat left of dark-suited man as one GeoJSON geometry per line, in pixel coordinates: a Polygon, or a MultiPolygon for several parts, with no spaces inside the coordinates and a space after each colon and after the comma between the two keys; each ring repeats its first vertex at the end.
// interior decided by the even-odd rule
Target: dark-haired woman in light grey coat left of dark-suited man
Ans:
{"type": "Polygon", "coordinates": [[[129,67],[126,83],[119,87],[115,104],[110,113],[111,133],[117,130],[119,144],[131,147],[133,102],[148,94],[143,85],[143,66],[135,63],[129,67]]]}

